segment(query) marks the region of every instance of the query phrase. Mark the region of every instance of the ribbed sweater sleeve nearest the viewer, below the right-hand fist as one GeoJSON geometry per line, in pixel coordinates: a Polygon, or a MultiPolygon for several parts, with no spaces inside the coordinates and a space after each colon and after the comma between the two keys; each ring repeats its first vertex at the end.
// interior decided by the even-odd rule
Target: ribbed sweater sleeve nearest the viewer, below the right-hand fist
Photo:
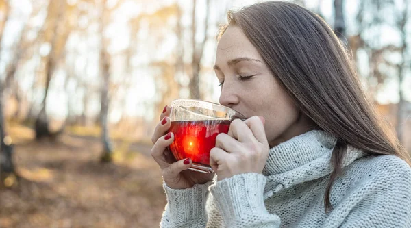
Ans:
{"type": "Polygon", "coordinates": [[[234,175],[210,186],[225,227],[279,227],[280,218],[264,205],[266,177],[259,173],[234,175]]]}

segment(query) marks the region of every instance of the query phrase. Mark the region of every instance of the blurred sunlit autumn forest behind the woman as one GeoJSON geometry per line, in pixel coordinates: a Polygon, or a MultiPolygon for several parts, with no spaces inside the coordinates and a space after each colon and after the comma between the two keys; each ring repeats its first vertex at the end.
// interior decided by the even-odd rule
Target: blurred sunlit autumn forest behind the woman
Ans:
{"type": "MultiPolygon", "coordinates": [[[[219,25],[256,2],[0,0],[0,227],[158,227],[153,129],[173,99],[218,103],[219,25]]],[[[410,1],[294,2],[411,151],[410,1]]]]}

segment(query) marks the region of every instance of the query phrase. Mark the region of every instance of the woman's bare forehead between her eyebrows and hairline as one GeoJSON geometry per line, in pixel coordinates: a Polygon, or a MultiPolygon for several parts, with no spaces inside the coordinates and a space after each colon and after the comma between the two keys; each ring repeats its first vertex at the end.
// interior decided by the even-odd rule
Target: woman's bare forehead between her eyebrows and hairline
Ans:
{"type": "Polygon", "coordinates": [[[226,62],[239,57],[262,60],[256,47],[251,44],[242,29],[230,25],[219,40],[216,51],[216,62],[226,62]]]}

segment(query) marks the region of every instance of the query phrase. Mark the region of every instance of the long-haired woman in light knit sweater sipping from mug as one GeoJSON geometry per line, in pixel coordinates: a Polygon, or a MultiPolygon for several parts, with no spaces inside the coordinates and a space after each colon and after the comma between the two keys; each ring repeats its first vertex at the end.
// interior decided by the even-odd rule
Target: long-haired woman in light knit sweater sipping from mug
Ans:
{"type": "Polygon", "coordinates": [[[220,103],[247,116],[219,134],[216,174],[173,161],[164,108],[153,135],[162,227],[411,227],[408,155],[316,14],[286,2],[229,12],[214,70],[220,103]]]}

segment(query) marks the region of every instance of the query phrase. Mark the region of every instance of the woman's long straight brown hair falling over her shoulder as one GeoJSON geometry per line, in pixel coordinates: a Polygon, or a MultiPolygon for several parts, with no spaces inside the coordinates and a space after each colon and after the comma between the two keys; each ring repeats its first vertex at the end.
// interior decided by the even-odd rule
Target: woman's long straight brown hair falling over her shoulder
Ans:
{"type": "Polygon", "coordinates": [[[301,112],[336,137],[326,212],[332,210],[329,194],[347,145],[367,155],[396,155],[410,164],[393,128],[367,99],[350,55],[321,17],[294,3],[271,1],[228,12],[219,37],[229,25],[242,29],[301,112]]]}

